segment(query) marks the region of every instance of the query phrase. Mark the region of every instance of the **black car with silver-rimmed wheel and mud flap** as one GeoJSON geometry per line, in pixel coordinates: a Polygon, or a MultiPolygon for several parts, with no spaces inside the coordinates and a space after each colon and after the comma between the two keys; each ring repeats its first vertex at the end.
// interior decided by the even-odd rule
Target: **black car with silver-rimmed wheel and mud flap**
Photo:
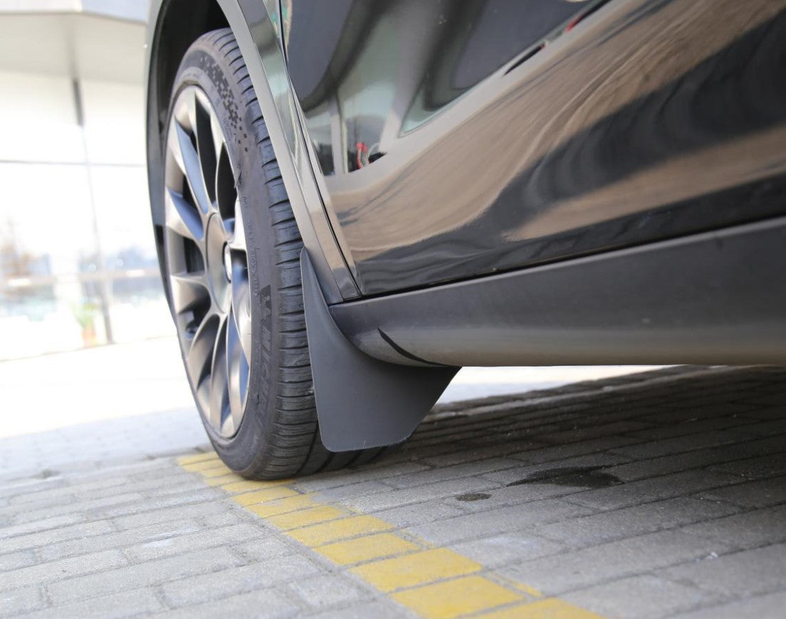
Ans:
{"type": "Polygon", "coordinates": [[[250,478],[463,365],[786,361],[786,2],[155,0],[150,202],[250,478]]]}

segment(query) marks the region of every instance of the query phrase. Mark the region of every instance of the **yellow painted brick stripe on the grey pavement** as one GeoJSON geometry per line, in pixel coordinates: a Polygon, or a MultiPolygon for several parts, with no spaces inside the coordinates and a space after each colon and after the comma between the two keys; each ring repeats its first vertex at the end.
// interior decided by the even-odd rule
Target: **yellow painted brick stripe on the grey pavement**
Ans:
{"type": "Polygon", "coordinates": [[[337,566],[346,566],[421,617],[489,619],[598,619],[564,600],[544,597],[478,562],[408,535],[405,530],[348,507],[325,504],[289,480],[249,482],[215,452],[184,456],[178,464],[219,486],[231,499],[337,566]]]}

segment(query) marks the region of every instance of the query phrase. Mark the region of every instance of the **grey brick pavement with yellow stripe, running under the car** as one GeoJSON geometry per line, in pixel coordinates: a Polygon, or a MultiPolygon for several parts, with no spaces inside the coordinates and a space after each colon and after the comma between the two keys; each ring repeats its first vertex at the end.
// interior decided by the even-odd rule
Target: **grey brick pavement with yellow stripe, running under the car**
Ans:
{"type": "Polygon", "coordinates": [[[786,370],[443,405],[351,471],[211,452],[0,484],[0,616],[781,617],[786,370]]]}

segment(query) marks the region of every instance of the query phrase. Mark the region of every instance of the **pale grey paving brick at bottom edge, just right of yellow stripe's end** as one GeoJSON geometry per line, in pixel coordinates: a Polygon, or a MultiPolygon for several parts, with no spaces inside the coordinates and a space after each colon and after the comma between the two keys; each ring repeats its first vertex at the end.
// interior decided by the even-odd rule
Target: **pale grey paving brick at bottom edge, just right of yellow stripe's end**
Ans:
{"type": "Polygon", "coordinates": [[[713,601],[694,587],[645,574],[599,584],[562,596],[567,602],[606,617],[656,619],[713,601]]]}

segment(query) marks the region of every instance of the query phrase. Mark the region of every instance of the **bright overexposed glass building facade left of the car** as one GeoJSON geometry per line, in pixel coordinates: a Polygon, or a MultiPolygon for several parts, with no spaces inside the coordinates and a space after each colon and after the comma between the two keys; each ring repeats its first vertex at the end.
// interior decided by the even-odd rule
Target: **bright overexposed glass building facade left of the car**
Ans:
{"type": "Polygon", "coordinates": [[[145,0],[0,0],[0,359],[171,334],[144,143],[145,0]]]}

